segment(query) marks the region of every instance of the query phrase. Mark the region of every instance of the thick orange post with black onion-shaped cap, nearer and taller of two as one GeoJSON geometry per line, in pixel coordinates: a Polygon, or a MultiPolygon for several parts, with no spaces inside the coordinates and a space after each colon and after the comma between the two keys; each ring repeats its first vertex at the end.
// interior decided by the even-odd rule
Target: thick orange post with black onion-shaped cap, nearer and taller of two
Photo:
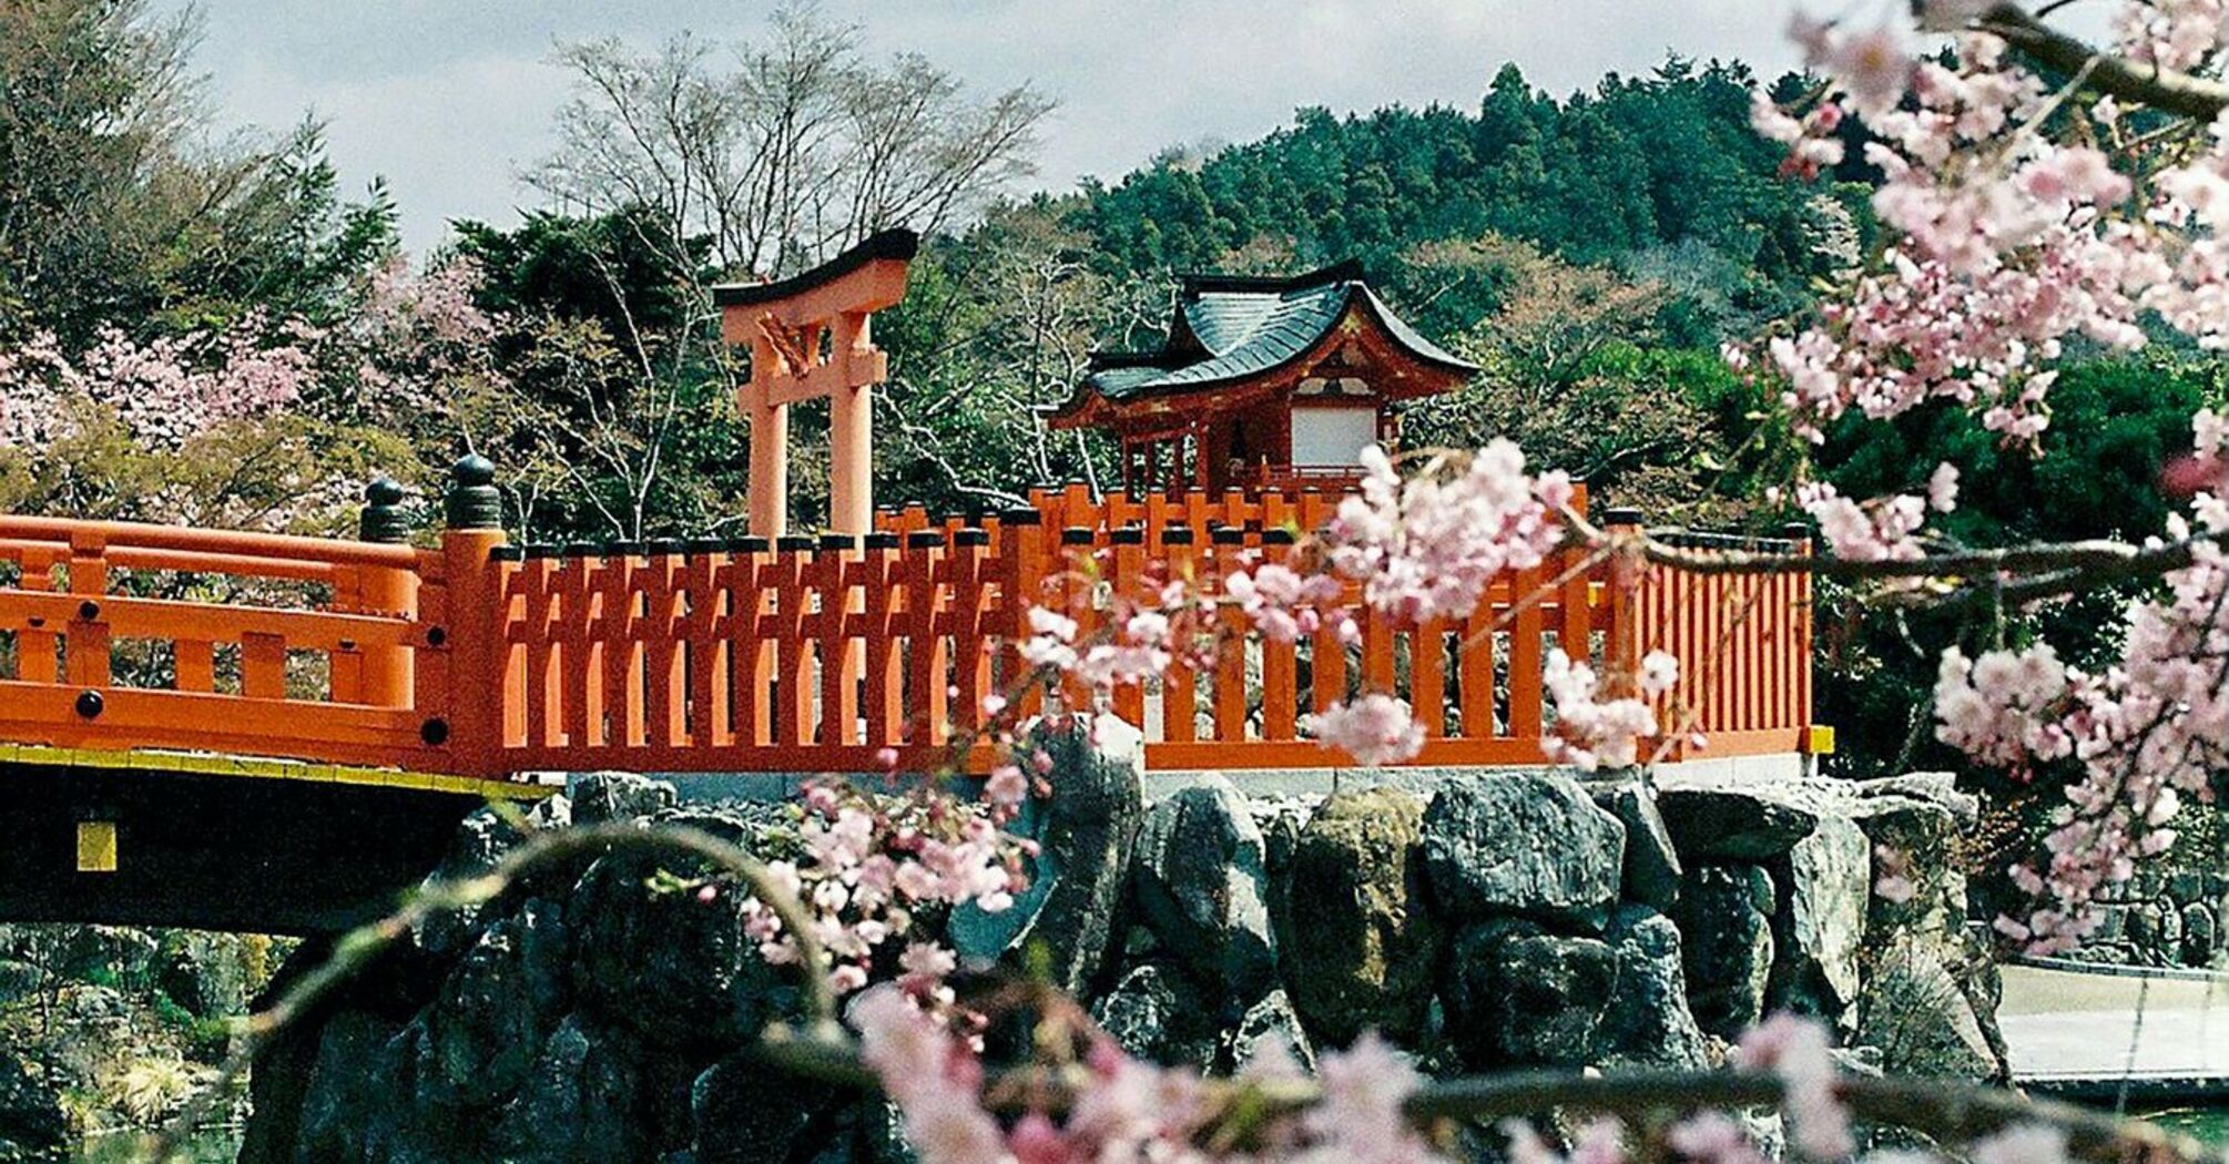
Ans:
{"type": "Polygon", "coordinates": [[[426,638],[450,653],[450,707],[421,707],[421,736],[430,747],[448,747],[448,763],[466,776],[504,774],[504,722],[510,705],[524,707],[526,676],[513,676],[504,644],[504,571],[495,560],[504,544],[502,497],[495,464],[464,457],[450,468],[441,504],[446,528],[441,555],[448,573],[448,627],[430,627],[426,638]],[[435,642],[439,640],[439,642],[435,642]]]}

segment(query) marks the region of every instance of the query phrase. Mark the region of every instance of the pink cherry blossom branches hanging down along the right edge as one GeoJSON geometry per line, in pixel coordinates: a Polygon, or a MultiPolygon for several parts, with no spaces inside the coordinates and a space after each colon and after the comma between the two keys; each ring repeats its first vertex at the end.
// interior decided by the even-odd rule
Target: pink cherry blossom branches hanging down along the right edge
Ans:
{"type": "MultiPolygon", "coordinates": [[[[2051,4],[2048,11],[2057,11],[2051,4]]],[[[1910,22],[1797,16],[1790,36],[1826,83],[1799,107],[1759,98],[1759,132],[1794,176],[1837,165],[1863,127],[1886,181],[1872,210],[1886,245],[1805,319],[1730,359],[1788,410],[1799,435],[1846,413],[1890,419],[1953,401],[2002,442],[2051,424],[2069,343],[2140,348],[2178,330],[2229,341],[2229,87],[2216,80],[2222,7],[2124,2],[2111,42],[2089,45],[2022,4],[1926,0],[1910,22]],[[1941,56],[1937,56],[1937,49],[1941,56]]],[[[2229,769],[2229,622],[2220,535],[2229,528],[2225,426],[2191,417],[2189,453],[2162,486],[2189,511],[2142,546],[1966,551],[1926,531],[1957,504],[1948,466],[1915,491],[1794,502],[1850,573],[1930,598],[2026,609],[2109,582],[2158,580],[2126,609],[2120,660],[2100,673],[2048,644],[1948,647],[1937,736],[1977,763],[2077,772],[2044,852],[2013,870],[2040,901],[1999,919],[2015,941],[2077,943],[2097,894],[2176,841],[2187,805],[2213,805],[2229,769]]]]}

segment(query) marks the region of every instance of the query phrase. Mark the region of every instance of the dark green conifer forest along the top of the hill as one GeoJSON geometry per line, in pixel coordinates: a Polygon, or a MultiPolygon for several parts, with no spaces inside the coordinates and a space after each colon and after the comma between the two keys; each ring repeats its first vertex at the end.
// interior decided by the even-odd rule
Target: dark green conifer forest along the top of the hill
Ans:
{"type": "Polygon", "coordinates": [[[1556,100],[1505,65],[1476,111],[1302,109],[1262,140],[1090,183],[1072,221],[1132,272],[1215,268],[1262,243],[1386,270],[1418,243],[1496,232],[1580,263],[1647,268],[1685,248],[1801,285],[1819,268],[1817,190],[1777,178],[1779,149],[1750,129],[1752,83],[1739,62],[1672,58],[1556,100]]]}

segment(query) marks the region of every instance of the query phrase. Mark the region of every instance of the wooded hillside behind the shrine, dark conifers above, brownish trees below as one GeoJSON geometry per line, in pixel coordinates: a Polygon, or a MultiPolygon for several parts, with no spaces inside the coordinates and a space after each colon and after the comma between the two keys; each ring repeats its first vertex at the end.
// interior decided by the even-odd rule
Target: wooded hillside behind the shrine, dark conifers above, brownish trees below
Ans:
{"type": "Polygon", "coordinates": [[[1741,444],[1721,419],[1748,410],[1710,352],[1852,263],[1863,221],[1863,187],[1777,174],[1752,85],[1745,65],[1672,58],[1554,98],[1505,65],[1471,111],[1302,109],[1253,143],[994,210],[929,245],[878,332],[898,368],[885,495],[981,504],[1088,471],[1086,444],[1036,417],[1092,348],[1155,339],[1175,272],[1355,256],[1487,368],[1413,435],[1511,435],[1638,502],[1694,499],[1741,444]]]}

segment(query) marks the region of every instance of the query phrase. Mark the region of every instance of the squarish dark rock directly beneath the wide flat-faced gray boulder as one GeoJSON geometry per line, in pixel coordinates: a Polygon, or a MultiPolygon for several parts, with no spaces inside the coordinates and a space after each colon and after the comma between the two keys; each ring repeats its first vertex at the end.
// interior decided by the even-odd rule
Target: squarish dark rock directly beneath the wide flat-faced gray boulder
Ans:
{"type": "Polygon", "coordinates": [[[1471,1070],[1585,1066],[1616,986],[1618,957],[1605,941],[1482,921],[1449,950],[1449,1039],[1471,1070]]]}

